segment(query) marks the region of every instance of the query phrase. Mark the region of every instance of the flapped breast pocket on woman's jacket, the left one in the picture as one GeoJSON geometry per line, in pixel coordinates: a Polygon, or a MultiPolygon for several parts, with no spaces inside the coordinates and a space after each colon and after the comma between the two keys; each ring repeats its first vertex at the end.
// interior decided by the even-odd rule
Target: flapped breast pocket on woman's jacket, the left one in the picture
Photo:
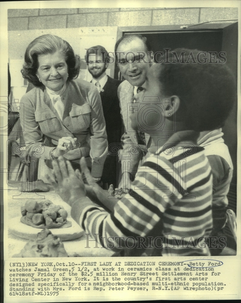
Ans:
{"type": "Polygon", "coordinates": [[[38,122],[41,132],[44,134],[61,130],[59,119],[50,109],[35,112],[35,120],[38,122]]]}

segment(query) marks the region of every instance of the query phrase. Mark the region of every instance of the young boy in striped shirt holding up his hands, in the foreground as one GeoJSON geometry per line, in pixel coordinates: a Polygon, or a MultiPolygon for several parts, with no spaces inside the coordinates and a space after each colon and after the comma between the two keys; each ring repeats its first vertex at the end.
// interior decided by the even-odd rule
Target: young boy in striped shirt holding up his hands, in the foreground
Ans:
{"type": "MultiPolygon", "coordinates": [[[[86,197],[85,185],[68,161],[61,157],[53,163],[57,192],[99,245],[135,256],[210,255],[213,177],[196,140],[199,132],[223,124],[235,86],[229,69],[209,63],[208,55],[205,61],[205,55],[177,49],[150,68],[144,90],[130,104],[130,119],[134,130],[151,135],[157,151],[138,169],[122,199],[105,200],[97,194],[110,212],[86,197]],[[183,52],[182,62],[176,60],[183,52]],[[191,55],[198,60],[190,62],[191,55]]],[[[92,186],[84,159],[81,168],[92,186]]]]}

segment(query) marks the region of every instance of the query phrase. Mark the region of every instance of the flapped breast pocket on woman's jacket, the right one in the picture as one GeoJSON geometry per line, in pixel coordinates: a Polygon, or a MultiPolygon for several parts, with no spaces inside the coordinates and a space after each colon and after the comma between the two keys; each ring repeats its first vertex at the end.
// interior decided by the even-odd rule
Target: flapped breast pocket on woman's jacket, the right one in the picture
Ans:
{"type": "Polygon", "coordinates": [[[87,103],[69,108],[69,116],[71,118],[73,132],[89,128],[90,112],[91,108],[87,103]]]}

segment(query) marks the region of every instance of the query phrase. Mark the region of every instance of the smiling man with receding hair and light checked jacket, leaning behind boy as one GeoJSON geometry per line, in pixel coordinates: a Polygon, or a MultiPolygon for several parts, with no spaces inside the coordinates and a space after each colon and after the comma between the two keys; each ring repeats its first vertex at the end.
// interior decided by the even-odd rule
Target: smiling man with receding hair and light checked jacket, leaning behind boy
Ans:
{"type": "Polygon", "coordinates": [[[126,80],[119,85],[118,97],[125,132],[122,135],[123,149],[120,152],[122,177],[119,187],[126,192],[135,178],[135,172],[151,145],[150,135],[132,128],[129,109],[133,96],[142,90],[147,72],[153,63],[153,53],[146,37],[126,35],[115,44],[115,57],[119,70],[126,80]]]}

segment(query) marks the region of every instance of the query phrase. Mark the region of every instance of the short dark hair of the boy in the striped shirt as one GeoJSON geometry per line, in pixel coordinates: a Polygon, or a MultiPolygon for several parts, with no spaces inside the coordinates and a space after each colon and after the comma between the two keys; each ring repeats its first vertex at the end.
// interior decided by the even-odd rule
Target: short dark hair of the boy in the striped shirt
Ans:
{"type": "Polygon", "coordinates": [[[224,63],[210,63],[209,53],[199,50],[178,48],[169,54],[168,63],[160,65],[159,81],[164,96],[177,95],[180,106],[176,121],[185,121],[190,130],[213,130],[224,125],[236,100],[236,82],[228,66],[224,63]],[[184,62],[175,62],[177,56],[185,52],[184,62]],[[208,58],[206,63],[187,62],[190,53],[199,61],[208,58]]]}

